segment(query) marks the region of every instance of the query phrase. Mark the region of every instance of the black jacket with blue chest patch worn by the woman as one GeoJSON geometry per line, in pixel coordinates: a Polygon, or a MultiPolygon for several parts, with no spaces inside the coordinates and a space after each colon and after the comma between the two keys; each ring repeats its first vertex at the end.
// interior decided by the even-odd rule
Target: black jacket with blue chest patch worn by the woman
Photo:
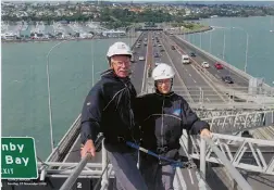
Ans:
{"type": "Polygon", "coordinates": [[[186,100],[174,92],[139,97],[135,111],[142,131],[142,147],[170,159],[178,154],[183,129],[194,135],[203,128],[209,129],[209,124],[200,121],[186,100]]]}

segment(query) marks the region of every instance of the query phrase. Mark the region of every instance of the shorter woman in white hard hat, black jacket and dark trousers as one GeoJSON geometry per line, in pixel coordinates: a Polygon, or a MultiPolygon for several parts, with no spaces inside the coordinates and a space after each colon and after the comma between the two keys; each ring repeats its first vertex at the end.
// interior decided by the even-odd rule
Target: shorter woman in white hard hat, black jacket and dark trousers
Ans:
{"type": "MultiPolygon", "coordinates": [[[[172,91],[175,73],[165,64],[152,71],[155,92],[137,98],[136,116],[141,127],[141,147],[171,160],[178,159],[183,129],[210,137],[209,124],[191,111],[186,100],[172,91]]],[[[140,154],[140,170],[148,189],[173,190],[171,163],[140,154]]]]}

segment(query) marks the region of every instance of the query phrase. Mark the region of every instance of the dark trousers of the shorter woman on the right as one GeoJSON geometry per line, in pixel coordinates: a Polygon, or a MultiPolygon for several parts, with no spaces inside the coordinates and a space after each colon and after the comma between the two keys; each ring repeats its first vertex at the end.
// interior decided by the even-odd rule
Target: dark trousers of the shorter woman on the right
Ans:
{"type": "Polygon", "coordinates": [[[173,190],[175,168],[141,160],[140,172],[149,190],[173,190]]]}

